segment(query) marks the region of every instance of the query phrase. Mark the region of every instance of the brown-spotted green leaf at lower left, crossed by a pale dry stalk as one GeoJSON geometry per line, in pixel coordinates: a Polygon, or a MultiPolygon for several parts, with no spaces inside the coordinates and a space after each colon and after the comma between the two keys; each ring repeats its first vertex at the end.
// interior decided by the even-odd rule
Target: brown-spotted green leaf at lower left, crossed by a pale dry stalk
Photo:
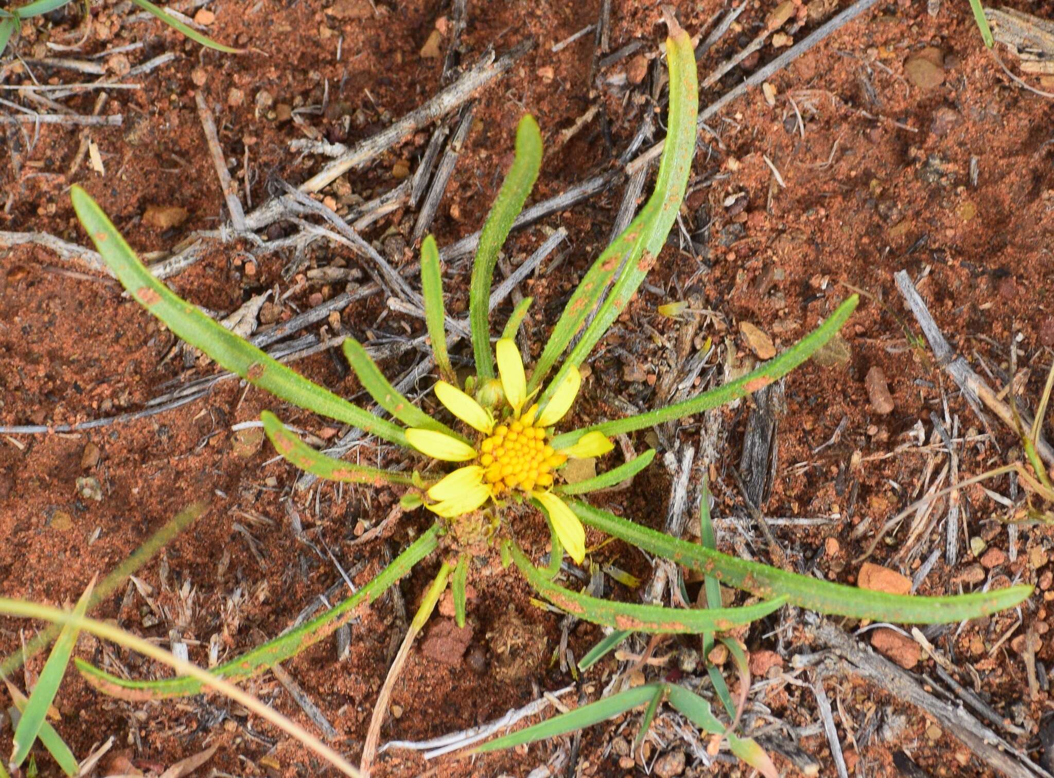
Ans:
{"type": "MultiPolygon", "coordinates": [[[[434,525],[392,563],[380,571],[369,583],[358,590],[339,605],[327,611],[306,624],[258,645],[247,654],[232,659],[210,671],[220,678],[248,678],[261,673],[272,664],[296,656],[319,640],[332,635],[337,627],[355,617],[363,603],[372,603],[389,586],[405,576],[422,559],[438,546],[440,526],[434,525]]],[[[161,699],[164,697],[188,697],[201,692],[201,681],[184,676],[163,678],[156,681],[136,681],[118,678],[80,659],[74,659],[77,670],[91,685],[99,691],[131,701],[161,699]]]]}

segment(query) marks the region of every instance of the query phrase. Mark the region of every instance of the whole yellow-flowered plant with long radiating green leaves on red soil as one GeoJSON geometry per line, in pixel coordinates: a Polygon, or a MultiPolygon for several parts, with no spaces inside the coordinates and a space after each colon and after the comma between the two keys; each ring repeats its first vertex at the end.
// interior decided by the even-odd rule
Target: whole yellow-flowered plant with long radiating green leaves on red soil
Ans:
{"type": "MultiPolygon", "coordinates": [[[[352,339],[345,342],[345,355],[364,388],[393,421],[302,378],[173,294],[139,262],[95,201],[80,187],[73,187],[77,216],[105,262],[132,297],[175,335],[281,400],[357,426],[426,457],[422,468],[411,473],[333,459],[300,441],[277,416],[264,412],[264,427],[275,450],[297,467],[333,481],[398,490],[405,510],[423,507],[434,514],[435,521],[347,600],[313,621],[215,667],[211,671],[214,675],[248,677],[302,652],[346,623],[362,603],[374,601],[437,550],[443,560],[432,585],[437,591],[433,593],[435,597],[426,600],[434,603],[449,580],[460,624],[465,621],[466,580],[472,557],[481,547],[494,544],[501,548],[503,561],[514,563],[525,580],[558,607],[617,630],[656,634],[715,634],[766,616],[784,603],[861,619],[958,621],[1010,607],[1031,593],[1030,586],[954,597],[909,597],[864,591],[737,559],[711,547],[669,537],[579,499],[640,472],[650,463],[653,451],[586,481],[563,482],[561,470],[568,459],[604,456],[613,447],[610,441],[613,435],[699,414],[786,375],[827,342],[858,303],[857,296],[850,297],[800,342],[721,387],[636,416],[557,432],[579,394],[581,364],[626,310],[659,256],[684,197],[696,146],[696,64],[687,34],[671,19],[667,23],[670,29],[666,40],[668,133],[655,192],[639,216],[585,274],[529,375],[514,341],[529,299],[516,306],[493,346],[488,300],[499,251],[541,166],[542,138],[532,117],[525,116],[519,124],[515,159],[484,225],[475,255],[469,290],[475,374],[464,382],[457,380],[447,354],[438,250],[431,236],[425,239],[421,261],[425,318],[435,363],[443,376],[434,384],[434,393],[450,417],[426,413],[402,396],[363,346],[352,339]],[[551,378],[550,373],[554,373],[551,378]],[[448,470],[451,465],[453,470],[448,470]],[[520,526],[540,518],[548,523],[551,538],[549,563],[545,567],[536,566],[516,541],[520,526]],[[575,563],[585,560],[585,526],[713,576],[754,594],[760,601],[743,607],[675,611],[608,601],[572,591],[555,579],[565,551],[575,563]]],[[[423,605],[418,615],[427,618],[430,611],[431,606],[425,610],[423,605]]],[[[196,677],[135,680],[109,675],[79,660],[77,666],[100,690],[136,700],[196,694],[202,686],[196,677]]],[[[656,686],[635,694],[656,698],[661,694],[668,696],[675,705],[681,701],[689,709],[698,705],[684,696],[689,692],[678,689],[656,686]]]]}

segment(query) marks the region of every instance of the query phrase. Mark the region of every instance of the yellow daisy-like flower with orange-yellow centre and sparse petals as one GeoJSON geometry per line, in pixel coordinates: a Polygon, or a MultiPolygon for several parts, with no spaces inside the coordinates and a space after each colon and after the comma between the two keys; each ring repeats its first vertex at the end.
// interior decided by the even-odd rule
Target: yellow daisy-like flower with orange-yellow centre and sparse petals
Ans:
{"type": "Polygon", "coordinates": [[[503,496],[531,497],[545,508],[552,528],[571,559],[581,563],[586,556],[585,530],[567,503],[550,487],[553,473],[568,457],[597,457],[613,447],[598,432],[588,433],[574,445],[557,452],[549,444],[548,427],[570,410],[579,394],[582,376],[573,365],[544,408],[538,403],[524,411],[529,397],[523,358],[509,338],[495,346],[497,372],[509,413],[501,421],[456,386],[438,381],[435,396],[450,413],[480,433],[473,447],[446,433],[410,427],[406,438],[422,454],[445,462],[471,462],[445,476],[427,494],[428,508],[453,518],[471,513],[488,499],[503,496]]]}

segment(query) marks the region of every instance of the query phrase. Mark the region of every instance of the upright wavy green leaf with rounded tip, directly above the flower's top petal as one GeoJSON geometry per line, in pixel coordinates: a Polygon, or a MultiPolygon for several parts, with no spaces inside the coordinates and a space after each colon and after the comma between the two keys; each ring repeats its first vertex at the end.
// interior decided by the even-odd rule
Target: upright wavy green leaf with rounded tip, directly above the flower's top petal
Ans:
{"type": "Polygon", "coordinates": [[[516,156],[480,233],[480,245],[472,264],[469,286],[469,323],[472,326],[472,352],[481,379],[494,377],[494,353],[490,347],[490,285],[497,253],[523,211],[542,166],[542,133],[530,114],[516,127],[516,156]]]}

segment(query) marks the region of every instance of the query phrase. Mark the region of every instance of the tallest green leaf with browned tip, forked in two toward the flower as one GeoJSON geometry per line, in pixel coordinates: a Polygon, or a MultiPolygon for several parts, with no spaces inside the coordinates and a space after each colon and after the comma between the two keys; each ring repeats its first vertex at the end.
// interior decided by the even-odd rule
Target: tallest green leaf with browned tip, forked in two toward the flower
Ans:
{"type": "Polygon", "coordinates": [[[528,392],[541,384],[585,322],[586,316],[596,308],[608,282],[618,273],[610,294],[601,303],[582,339],[542,394],[539,400],[542,407],[548,402],[553,387],[560,385],[569,365],[578,367],[582,364],[637,293],[662,251],[684,199],[688,175],[691,173],[691,159],[696,152],[699,87],[691,39],[676,22],[671,24],[669,37],[666,38],[666,63],[669,68],[668,129],[655,192],[626,231],[593,263],[557,322],[531,375],[528,392]]]}

